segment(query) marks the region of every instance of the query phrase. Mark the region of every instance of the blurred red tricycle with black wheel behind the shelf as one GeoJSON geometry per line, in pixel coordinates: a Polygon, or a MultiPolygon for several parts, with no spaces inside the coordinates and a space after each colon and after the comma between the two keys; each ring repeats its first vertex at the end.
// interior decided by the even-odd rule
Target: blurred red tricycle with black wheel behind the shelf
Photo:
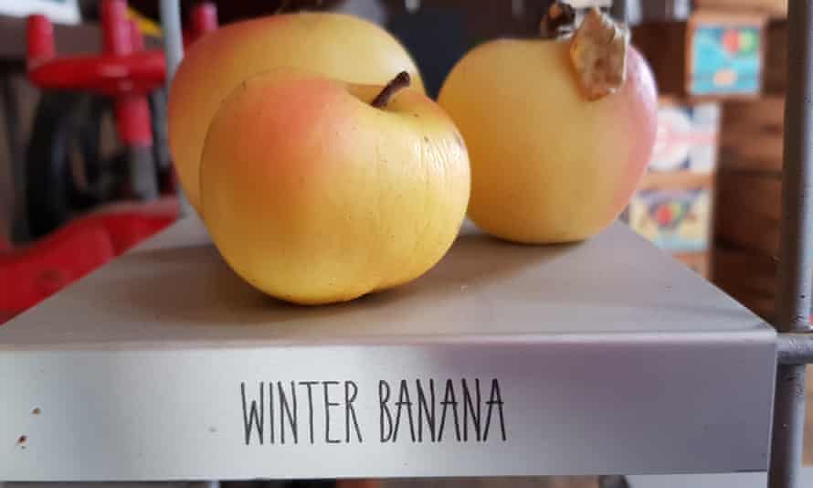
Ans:
{"type": "MultiPolygon", "coordinates": [[[[43,90],[25,161],[32,241],[0,243],[0,324],[178,215],[164,52],[145,48],[127,8],[100,3],[100,54],[59,57],[48,18],[27,19],[27,76],[43,90]],[[102,151],[104,122],[119,143],[112,155],[102,151]]],[[[216,29],[215,5],[195,5],[189,20],[187,45],[216,29]]]]}

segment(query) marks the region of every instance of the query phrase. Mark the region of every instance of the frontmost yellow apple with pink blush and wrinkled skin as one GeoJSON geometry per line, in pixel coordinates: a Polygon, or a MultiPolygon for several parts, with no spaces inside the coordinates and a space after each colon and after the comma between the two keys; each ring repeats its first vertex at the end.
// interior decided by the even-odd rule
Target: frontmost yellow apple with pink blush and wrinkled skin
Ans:
{"type": "Polygon", "coordinates": [[[288,302],[344,302],[415,280],[466,213],[470,167],[449,116],[417,90],[279,69],[223,102],[206,136],[206,227],[244,280],[288,302]]]}

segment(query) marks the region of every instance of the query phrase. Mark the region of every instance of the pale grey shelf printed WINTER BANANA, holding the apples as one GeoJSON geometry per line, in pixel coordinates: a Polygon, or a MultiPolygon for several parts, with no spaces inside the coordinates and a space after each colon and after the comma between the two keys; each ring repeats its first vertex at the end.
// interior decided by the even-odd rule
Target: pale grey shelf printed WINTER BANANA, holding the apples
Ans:
{"type": "Polygon", "coordinates": [[[421,279],[306,308],[240,281],[190,217],[0,327],[0,480],[761,471],[775,355],[621,224],[555,247],[467,226],[421,279]]]}

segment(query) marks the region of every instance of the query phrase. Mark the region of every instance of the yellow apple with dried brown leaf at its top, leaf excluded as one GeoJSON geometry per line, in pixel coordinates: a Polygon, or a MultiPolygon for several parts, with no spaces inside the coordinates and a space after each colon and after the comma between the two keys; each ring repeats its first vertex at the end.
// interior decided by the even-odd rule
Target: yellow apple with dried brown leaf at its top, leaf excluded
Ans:
{"type": "Polygon", "coordinates": [[[655,143],[658,96],[627,51],[618,92],[587,101],[561,40],[500,39],[471,50],[438,103],[471,161],[469,217],[523,243],[587,239],[627,206],[655,143]]]}

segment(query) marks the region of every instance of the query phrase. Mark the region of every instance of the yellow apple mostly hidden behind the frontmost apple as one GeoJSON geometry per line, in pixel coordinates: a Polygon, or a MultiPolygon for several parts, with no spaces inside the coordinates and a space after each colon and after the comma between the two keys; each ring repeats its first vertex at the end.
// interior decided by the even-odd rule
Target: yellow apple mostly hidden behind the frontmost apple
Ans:
{"type": "Polygon", "coordinates": [[[290,66],[351,83],[385,84],[417,66],[395,37],[354,16],[298,13],[252,19],[207,34],[186,53],[169,95],[169,143],[190,203],[200,211],[199,164],[206,130],[227,94],[249,76],[290,66]]]}

